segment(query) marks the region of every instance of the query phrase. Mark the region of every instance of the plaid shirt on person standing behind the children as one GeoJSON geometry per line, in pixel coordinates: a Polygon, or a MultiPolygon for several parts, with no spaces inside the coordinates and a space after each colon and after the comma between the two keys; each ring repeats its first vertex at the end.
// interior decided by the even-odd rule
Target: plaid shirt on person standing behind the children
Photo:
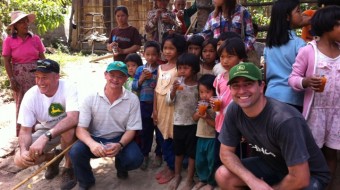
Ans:
{"type": "Polygon", "coordinates": [[[214,17],[214,11],[211,12],[201,35],[204,36],[204,38],[207,38],[208,36],[218,38],[222,32],[228,31],[236,32],[241,35],[247,51],[254,50],[253,44],[255,42],[255,36],[253,23],[251,15],[245,7],[239,4],[236,5],[231,23],[228,22],[228,19],[223,17],[222,13],[219,13],[217,17],[214,17]],[[243,24],[241,21],[242,17],[243,24]],[[242,36],[242,26],[244,27],[244,36],[242,36]]]}

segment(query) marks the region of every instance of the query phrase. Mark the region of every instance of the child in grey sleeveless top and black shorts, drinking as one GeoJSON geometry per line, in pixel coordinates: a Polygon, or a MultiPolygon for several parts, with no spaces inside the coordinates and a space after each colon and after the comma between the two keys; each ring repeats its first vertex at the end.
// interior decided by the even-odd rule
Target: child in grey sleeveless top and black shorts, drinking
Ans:
{"type": "Polygon", "coordinates": [[[189,157],[188,176],[183,189],[190,190],[194,183],[195,154],[196,154],[196,121],[192,115],[198,100],[196,74],[199,72],[199,58],[191,53],[184,53],[177,60],[176,80],[167,94],[167,102],[174,104],[174,151],[175,178],[169,189],[177,189],[181,182],[181,171],[184,155],[189,157]]]}

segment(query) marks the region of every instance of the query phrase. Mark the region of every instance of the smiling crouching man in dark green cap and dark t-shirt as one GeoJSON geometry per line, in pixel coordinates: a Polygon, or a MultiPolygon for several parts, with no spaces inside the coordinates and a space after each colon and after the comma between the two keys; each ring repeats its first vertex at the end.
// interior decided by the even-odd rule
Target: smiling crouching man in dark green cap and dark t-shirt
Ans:
{"type": "Polygon", "coordinates": [[[219,135],[223,165],[215,174],[221,189],[324,189],[329,170],[302,115],[264,96],[261,71],[252,63],[234,66],[228,85],[233,102],[219,135]],[[253,157],[235,155],[241,137],[253,157]]]}

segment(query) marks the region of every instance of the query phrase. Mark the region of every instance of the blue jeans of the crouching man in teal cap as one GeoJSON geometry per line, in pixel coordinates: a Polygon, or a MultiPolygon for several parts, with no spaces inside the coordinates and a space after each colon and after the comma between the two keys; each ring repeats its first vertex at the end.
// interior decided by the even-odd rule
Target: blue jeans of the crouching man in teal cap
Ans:
{"type": "MultiPolygon", "coordinates": [[[[113,139],[104,139],[92,137],[96,142],[119,142],[121,136],[113,139]]],[[[98,158],[92,154],[90,148],[78,140],[71,148],[69,155],[71,157],[74,173],[79,181],[79,186],[88,187],[95,183],[95,178],[90,165],[91,158],[98,158]]],[[[143,163],[143,154],[138,145],[131,141],[125,145],[123,150],[115,157],[115,166],[117,171],[129,171],[139,168],[143,163]]]]}

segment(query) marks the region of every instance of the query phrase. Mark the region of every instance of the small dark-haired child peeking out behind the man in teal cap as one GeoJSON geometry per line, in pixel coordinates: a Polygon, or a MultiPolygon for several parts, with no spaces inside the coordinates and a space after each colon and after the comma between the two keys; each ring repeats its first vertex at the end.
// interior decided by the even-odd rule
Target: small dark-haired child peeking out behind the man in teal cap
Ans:
{"type": "Polygon", "coordinates": [[[143,61],[142,61],[142,58],[140,58],[140,56],[137,53],[130,53],[129,55],[126,56],[124,63],[126,64],[128,68],[128,73],[129,73],[129,78],[125,82],[124,88],[129,91],[133,91],[132,82],[133,82],[137,68],[143,65],[143,61]]]}

